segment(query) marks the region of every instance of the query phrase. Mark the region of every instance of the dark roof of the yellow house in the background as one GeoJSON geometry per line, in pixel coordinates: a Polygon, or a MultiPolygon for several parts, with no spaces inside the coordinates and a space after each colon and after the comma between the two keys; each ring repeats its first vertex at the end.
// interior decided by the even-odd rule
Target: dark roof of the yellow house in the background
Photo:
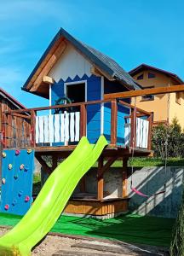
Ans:
{"type": "Polygon", "coordinates": [[[158,72],[158,73],[163,73],[164,75],[170,77],[171,79],[174,79],[178,84],[184,84],[184,81],[179,78],[175,73],[170,73],[164,69],[160,69],[158,67],[152,67],[152,66],[149,66],[147,64],[144,64],[142,63],[141,65],[133,68],[132,70],[129,71],[129,74],[133,77],[135,76],[137,73],[140,73],[144,70],[152,70],[152,71],[155,71],[155,72],[158,72]]]}

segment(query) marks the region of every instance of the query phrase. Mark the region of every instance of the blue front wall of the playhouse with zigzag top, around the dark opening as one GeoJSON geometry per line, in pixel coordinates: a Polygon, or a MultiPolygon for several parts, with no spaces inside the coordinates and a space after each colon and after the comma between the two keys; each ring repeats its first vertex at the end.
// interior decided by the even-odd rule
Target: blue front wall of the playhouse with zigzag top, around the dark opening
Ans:
{"type": "MultiPolygon", "coordinates": [[[[60,79],[52,86],[52,105],[55,100],[64,96],[64,83],[87,80],[87,101],[101,100],[101,77],[83,75],[82,78],[76,76],[74,79],[68,78],[66,81],[60,79]]],[[[78,84],[76,84],[78,86],[78,84]]],[[[91,105],[87,107],[87,137],[90,143],[95,143],[101,135],[101,106],[91,105]]]]}

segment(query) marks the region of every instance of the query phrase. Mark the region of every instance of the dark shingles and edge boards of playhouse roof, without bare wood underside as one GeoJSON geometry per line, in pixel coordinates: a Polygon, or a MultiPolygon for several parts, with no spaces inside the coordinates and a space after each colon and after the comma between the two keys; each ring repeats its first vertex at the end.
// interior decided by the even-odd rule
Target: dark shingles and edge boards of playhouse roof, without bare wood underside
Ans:
{"type": "Polygon", "coordinates": [[[82,42],[78,41],[78,39],[73,38],[72,35],[66,32],[63,28],[60,28],[60,31],[55,35],[55,38],[49,44],[49,47],[46,49],[41,59],[37,62],[37,65],[33,69],[29,78],[26,80],[26,83],[22,88],[23,90],[26,90],[26,85],[31,81],[34,73],[37,72],[37,68],[40,66],[40,64],[44,60],[45,56],[49,53],[49,50],[52,48],[55,42],[61,37],[66,38],[66,40],[69,41],[79,51],[81,51],[83,55],[85,55],[89,59],[89,61],[93,62],[96,65],[96,67],[99,67],[102,71],[106,72],[110,77],[124,84],[127,88],[129,88],[129,90],[141,89],[141,86],[139,84],[136,84],[135,80],[132,79],[129,73],[126,73],[124,69],[120,67],[116,61],[113,61],[112,58],[102,54],[97,49],[94,49],[87,44],[83,44],[82,42]]]}

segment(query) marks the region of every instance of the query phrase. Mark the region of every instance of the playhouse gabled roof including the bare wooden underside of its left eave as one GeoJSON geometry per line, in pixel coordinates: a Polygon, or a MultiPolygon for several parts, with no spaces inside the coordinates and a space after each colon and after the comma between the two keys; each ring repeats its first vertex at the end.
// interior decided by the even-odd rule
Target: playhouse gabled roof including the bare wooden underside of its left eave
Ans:
{"type": "Polygon", "coordinates": [[[134,81],[134,79],[132,79],[129,73],[126,73],[116,61],[113,61],[112,58],[102,54],[97,49],[94,49],[87,44],[83,44],[82,42],[78,41],[78,39],[73,38],[72,35],[66,32],[63,28],[60,28],[60,31],[55,35],[55,38],[49,44],[49,47],[45,50],[41,59],[37,62],[36,67],[33,69],[29,78],[26,80],[26,83],[23,85],[22,90],[30,91],[44,97],[49,96],[49,93],[47,94],[46,90],[45,94],[42,94],[42,92],[39,90],[32,90],[32,86],[34,84],[34,81],[43,70],[43,62],[49,60],[49,57],[54,52],[54,48],[56,49],[62,39],[66,40],[66,42],[71,43],[75,47],[75,49],[77,49],[82,55],[84,55],[84,57],[86,57],[92,64],[94,64],[95,67],[97,67],[103,74],[107,75],[108,78],[118,80],[118,82],[124,84],[124,86],[126,86],[129,90],[141,89],[140,85],[136,84],[136,82],[134,81]]]}

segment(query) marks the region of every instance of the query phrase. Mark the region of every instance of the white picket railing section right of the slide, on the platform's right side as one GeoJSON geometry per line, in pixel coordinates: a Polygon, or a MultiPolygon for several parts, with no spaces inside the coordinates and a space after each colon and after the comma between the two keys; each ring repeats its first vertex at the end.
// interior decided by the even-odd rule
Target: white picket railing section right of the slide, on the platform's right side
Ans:
{"type": "MultiPolygon", "coordinates": [[[[131,124],[124,125],[124,144],[130,145],[131,124]]],[[[149,134],[149,121],[147,119],[136,118],[136,148],[147,148],[149,134]]]]}

